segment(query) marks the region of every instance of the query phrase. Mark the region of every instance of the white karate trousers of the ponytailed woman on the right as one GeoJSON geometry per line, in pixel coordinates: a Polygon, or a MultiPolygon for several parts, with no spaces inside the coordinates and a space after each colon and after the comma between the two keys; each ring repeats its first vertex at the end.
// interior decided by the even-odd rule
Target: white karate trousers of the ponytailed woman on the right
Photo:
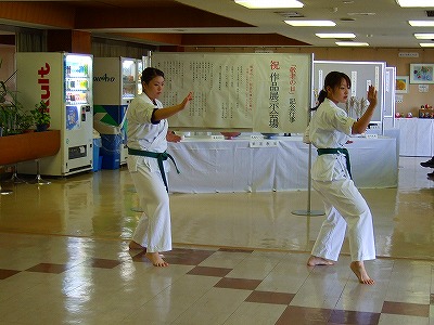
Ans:
{"type": "Polygon", "coordinates": [[[326,220],[315,242],[311,255],[337,261],[345,232],[353,261],[375,259],[372,214],[350,179],[312,181],[312,187],[324,202],[326,220]]]}

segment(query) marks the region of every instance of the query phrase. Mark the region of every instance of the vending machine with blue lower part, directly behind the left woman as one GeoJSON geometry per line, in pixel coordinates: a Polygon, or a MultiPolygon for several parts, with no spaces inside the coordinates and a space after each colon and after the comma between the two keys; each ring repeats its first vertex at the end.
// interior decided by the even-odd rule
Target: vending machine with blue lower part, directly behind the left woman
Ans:
{"type": "Polygon", "coordinates": [[[138,60],[128,57],[94,57],[93,60],[93,119],[94,129],[101,133],[103,140],[103,168],[115,169],[116,164],[108,160],[117,159],[116,151],[114,157],[108,157],[112,145],[117,146],[116,135],[119,141],[119,165],[125,164],[127,151],[127,136],[125,113],[128,104],[137,95],[138,87],[138,60]],[[119,134],[117,134],[119,133],[119,134]],[[107,135],[107,136],[104,136],[107,135]],[[114,135],[114,136],[112,136],[114,135]],[[105,143],[112,141],[113,143],[105,143]],[[104,151],[104,146],[110,146],[104,151]],[[108,160],[107,160],[108,159],[108,160]]]}

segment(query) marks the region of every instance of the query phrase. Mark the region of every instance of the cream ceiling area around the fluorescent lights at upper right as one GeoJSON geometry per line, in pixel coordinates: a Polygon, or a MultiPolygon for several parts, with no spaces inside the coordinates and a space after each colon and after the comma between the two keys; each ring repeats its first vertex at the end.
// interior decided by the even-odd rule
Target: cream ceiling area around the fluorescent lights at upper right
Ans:
{"type": "MultiPolygon", "coordinates": [[[[427,17],[426,9],[403,9],[395,0],[301,0],[303,9],[248,10],[232,0],[177,0],[188,5],[231,17],[257,27],[227,30],[227,32],[277,32],[316,47],[334,47],[335,40],[320,39],[316,32],[354,32],[354,41],[370,47],[419,48],[414,32],[434,32],[434,28],[411,27],[409,20],[427,17]],[[306,20],[331,20],[335,27],[292,27],[276,12],[296,12],[306,20]],[[353,21],[347,21],[347,20],[353,21]]],[[[434,0],[433,10],[434,10],[434,0]]],[[[298,18],[298,20],[303,20],[298,18]]],[[[191,30],[190,30],[191,31],[191,30]]],[[[196,32],[209,32],[196,30],[196,32]]]]}

